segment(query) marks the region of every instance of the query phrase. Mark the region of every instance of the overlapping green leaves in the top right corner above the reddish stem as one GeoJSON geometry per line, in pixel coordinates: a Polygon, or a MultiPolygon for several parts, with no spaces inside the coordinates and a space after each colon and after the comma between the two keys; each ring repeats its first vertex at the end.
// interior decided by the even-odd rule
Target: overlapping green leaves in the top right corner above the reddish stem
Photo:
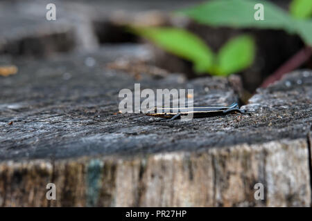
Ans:
{"type": "MultiPolygon", "coordinates": [[[[296,13],[296,15],[297,13],[303,13],[303,11],[304,13],[308,13],[305,10],[311,10],[311,2],[312,0],[295,0],[291,3],[292,11],[296,13]]],[[[297,33],[306,44],[312,46],[312,35],[309,35],[312,30],[312,20],[295,19],[293,16],[268,1],[212,0],[198,6],[180,10],[179,13],[209,26],[274,28],[286,30],[289,33],[297,33]],[[263,4],[263,21],[254,19],[254,6],[257,3],[263,4]]]]}

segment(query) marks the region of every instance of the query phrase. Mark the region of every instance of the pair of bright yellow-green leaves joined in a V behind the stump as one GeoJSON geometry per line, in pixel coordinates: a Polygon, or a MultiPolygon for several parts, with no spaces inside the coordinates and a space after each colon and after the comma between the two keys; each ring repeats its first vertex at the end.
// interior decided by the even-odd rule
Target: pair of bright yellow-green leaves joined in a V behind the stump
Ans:
{"type": "Polygon", "coordinates": [[[184,29],[137,27],[133,30],[167,52],[192,61],[194,71],[199,74],[230,75],[248,68],[254,60],[254,41],[247,35],[230,39],[214,55],[200,37],[184,29]]]}

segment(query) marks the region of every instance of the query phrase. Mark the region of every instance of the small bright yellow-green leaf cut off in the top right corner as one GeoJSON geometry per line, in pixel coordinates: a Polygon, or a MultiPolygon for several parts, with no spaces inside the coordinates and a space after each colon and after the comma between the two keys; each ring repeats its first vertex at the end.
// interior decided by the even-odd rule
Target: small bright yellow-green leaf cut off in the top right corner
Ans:
{"type": "Polygon", "coordinates": [[[312,15],[311,0],[293,0],[289,8],[291,15],[297,19],[306,19],[312,15]]]}

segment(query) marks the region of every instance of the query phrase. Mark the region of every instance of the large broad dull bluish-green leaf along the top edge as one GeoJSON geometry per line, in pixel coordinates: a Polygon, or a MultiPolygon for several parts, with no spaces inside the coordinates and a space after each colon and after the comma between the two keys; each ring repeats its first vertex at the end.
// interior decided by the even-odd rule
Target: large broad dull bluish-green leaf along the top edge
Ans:
{"type": "Polygon", "coordinates": [[[293,21],[288,14],[268,1],[254,0],[212,0],[193,8],[180,10],[199,23],[209,26],[230,26],[234,28],[273,28],[293,32],[293,21]],[[264,20],[254,19],[254,6],[263,4],[264,20]]]}

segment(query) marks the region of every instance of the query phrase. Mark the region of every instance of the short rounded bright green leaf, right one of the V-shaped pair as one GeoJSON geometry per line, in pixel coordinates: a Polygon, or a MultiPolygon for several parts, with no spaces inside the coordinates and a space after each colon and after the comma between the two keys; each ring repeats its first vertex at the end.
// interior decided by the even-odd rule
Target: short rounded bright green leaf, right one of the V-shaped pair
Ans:
{"type": "Polygon", "coordinates": [[[216,73],[230,75],[248,68],[255,57],[255,44],[252,37],[242,35],[227,41],[217,55],[216,73]]]}

